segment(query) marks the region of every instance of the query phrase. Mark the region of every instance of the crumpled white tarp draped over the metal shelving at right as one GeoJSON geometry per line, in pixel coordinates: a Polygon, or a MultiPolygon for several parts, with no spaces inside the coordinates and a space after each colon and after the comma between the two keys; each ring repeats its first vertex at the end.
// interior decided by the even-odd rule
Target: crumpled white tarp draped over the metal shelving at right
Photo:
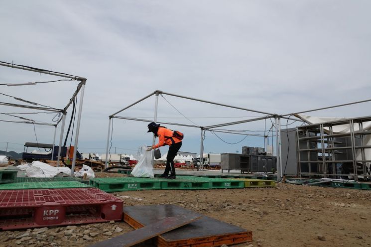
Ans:
{"type": "MultiPolygon", "coordinates": [[[[347,119],[347,118],[313,117],[313,116],[307,116],[307,115],[304,115],[304,114],[296,114],[295,116],[298,117],[299,119],[305,121],[308,124],[320,124],[320,123],[325,123],[325,122],[332,122],[332,121],[339,121],[339,120],[347,119]]],[[[358,124],[353,124],[353,125],[354,125],[353,126],[354,131],[359,131],[360,130],[358,124]]],[[[350,126],[351,126],[350,124],[341,124],[341,125],[334,126],[332,129],[333,129],[334,133],[349,133],[350,132],[350,126]]],[[[328,127],[324,127],[324,130],[327,133],[329,132],[328,127]]],[[[363,130],[364,131],[365,130],[371,130],[371,121],[363,123],[363,130]]],[[[367,146],[371,145],[371,135],[370,134],[366,135],[366,137],[364,139],[364,144],[367,145],[367,146]]],[[[365,156],[366,156],[366,160],[371,160],[371,148],[365,148],[365,156]]],[[[356,159],[357,160],[362,160],[362,154],[361,154],[360,149],[357,150],[356,159]]],[[[366,164],[370,165],[370,162],[368,162],[366,164]]]]}

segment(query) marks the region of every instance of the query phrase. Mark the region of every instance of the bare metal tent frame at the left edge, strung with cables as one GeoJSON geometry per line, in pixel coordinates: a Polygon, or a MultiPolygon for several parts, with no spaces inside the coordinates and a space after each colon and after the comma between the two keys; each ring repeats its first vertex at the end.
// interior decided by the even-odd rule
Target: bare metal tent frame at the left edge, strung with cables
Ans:
{"type": "Polygon", "coordinates": [[[0,65],[4,66],[4,67],[10,67],[10,68],[13,68],[13,69],[27,70],[27,71],[32,71],[32,72],[37,72],[37,73],[42,73],[42,74],[48,74],[48,75],[58,76],[58,77],[64,77],[64,78],[69,78],[69,79],[73,79],[73,80],[76,80],[76,81],[80,81],[76,91],[74,92],[70,101],[68,102],[68,104],[66,105],[66,107],[64,109],[50,109],[50,108],[44,108],[44,107],[33,107],[33,106],[27,106],[27,105],[17,105],[17,104],[9,104],[9,103],[0,102],[0,105],[3,105],[3,106],[19,107],[19,108],[34,109],[34,110],[43,110],[43,111],[50,111],[50,112],[55,112],[55,113],[61,113],[62,114],[62,118],[56,124],[43,124],[43,123],[32,123],[32,122],[23,122],[23,121],[1,121],[1,122],[11,122],[11,123],[21,123],[21,124],[39,124],[39,125],[52,125],[52,126],[54,126],[55,129],[54,129],[53,150],[52,150],[52,156],[51,156],[52,159],[53,159],[53,155],[54,155],[54,144],[55,144],[55,135],[56,135],[56,131],[57,131],[57,126],[60,122],[62,122],[61,133],[60,133],[60,138],[59,138],[58,159],[57,159],[57,167],[58,167],[59,163],[60,163],[60,154],[61,154],[61,149],[62,149],[62,140],[63,140],[64,125],[65,125],[66,116],[67,116],[67,109],[70,107],[73,100],[76,98],[77,94],[81,91],[79,113],[78,113],[78,119],[77,119],[77,124],[76,124],[76,132],[75,132],[75,148],[73,150],[73,158],[72,158],[72,166],[71,166],[71,176],[73,177],[74,171],[75,171],[76,152],[77,152],[77,145],[78,145],[79,131],[80,131],[81,112],[82,112],[82,106],[83,106],[83,100],[84,100],[84,90],[85,90],[85,84],[86,84],[87,79],[84,78],[84,77],[80,77],[80,76],[73,76],[73,75],[69,75],[69,74],[53,72],[53,71],[48,71],[48,70],[44,70],[44,69],[37,69],[37,68],[29,67],[29,66],[15,65],[15,64],[12,64],[12,63],[0,62],[0,65]]]}

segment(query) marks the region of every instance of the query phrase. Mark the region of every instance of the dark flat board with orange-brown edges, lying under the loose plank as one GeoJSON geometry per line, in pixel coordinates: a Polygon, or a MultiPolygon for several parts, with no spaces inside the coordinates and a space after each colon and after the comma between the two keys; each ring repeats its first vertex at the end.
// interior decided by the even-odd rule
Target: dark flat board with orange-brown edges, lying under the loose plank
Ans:
{"type": "MultiPolygon", "coordinates": [[[[124,221],[135,229],[152,224],[161,217],[172,217],[192,211],[177,205],[146,205],[124,207],[124,221]]],[[[251,231],[207,216],[191,224],[158,236],[159,247],[221,246],[252,241],[251,231]]]]}

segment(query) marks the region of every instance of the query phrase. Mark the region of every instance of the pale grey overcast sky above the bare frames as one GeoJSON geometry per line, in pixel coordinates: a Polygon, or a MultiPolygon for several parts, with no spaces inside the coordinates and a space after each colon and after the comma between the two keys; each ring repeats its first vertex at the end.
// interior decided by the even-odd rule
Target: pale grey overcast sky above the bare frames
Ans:
{"type": "MultiPolygon", "coordinates": [[[[108,116],[156,89],[276,114],[370,99],[370,9],[369,0],[0,0],[0,61],[86,77],[79,150],[102,153],[108,116]]],[[[0,84],[55,79],[0,67],[0,84]]],[[[76,87],[77,82],[0,86],[0,93],[63,108],[76,87]]],[[[0,102],[23,104],[2,95],[0,102]]],[[[153,118],[154,103],[152,96],[120,116],[153,118]]],[[[308,115],[369,116],[370,107],[308,115]]],[[[25,112],[35,111],[0,107],[0,113],[25,112]]],[[[53,118],[17,116],[47,123],[53,118]]],[[[205,126],[259,116],[159,97],[163,122],[205,126]]],[[[0,115],[0,120],[16,118],[0,115]]],[[[271,126],[269,119],[264,122],[224,128],[264,131],[271,126]]],[[[112,147],[136,153],[138,146],[150,144],[146,125],[115,119],[112,147]]],[[[35,136],[32,124],[0,126],[0,150],[11,142],[8,149],[23,151],[22,144],[36,142],[36,136],[38,142],[53,141],[54,127],[35,126],[35,136]]],[[[199,129],[168,127],[184,132],[182,151],[199,152],[199,129]]],[[[230,143],[244,138],[218,135],[230,143]]],[[[207,131],[205,151],[241,152],[241,146],[263,144],[263,138],[251,136],[227,144],[207,131]]]]}

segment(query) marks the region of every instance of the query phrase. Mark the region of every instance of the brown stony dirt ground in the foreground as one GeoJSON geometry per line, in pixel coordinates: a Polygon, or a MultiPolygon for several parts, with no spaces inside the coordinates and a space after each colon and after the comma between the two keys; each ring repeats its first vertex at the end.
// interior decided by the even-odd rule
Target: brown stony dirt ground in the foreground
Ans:
{"type": "MultiPolygon", "coordinates": [[[[147,190],[114,195],[124,200],[124,206],[176,204],[252,231],[253,242],[236,247],[371,246],[371,191],[280,183],[276,188],[147,190]]],[[[65,236],[66,230],[50,228],[45,238],[33,241],[35,234],[31,234],[21,243],[19,235],[25,231],[0,232],[0,247],[83,247],[132,231],[124,222],[78,226],[72,236],[65,236]],[[117,227],[123,231],[115,233],[117,227]],[[105,234],[108,230],[112,236],[105,234]],[[84,239],[84,232],[99,235],[88,234],[84,239]]]]}

